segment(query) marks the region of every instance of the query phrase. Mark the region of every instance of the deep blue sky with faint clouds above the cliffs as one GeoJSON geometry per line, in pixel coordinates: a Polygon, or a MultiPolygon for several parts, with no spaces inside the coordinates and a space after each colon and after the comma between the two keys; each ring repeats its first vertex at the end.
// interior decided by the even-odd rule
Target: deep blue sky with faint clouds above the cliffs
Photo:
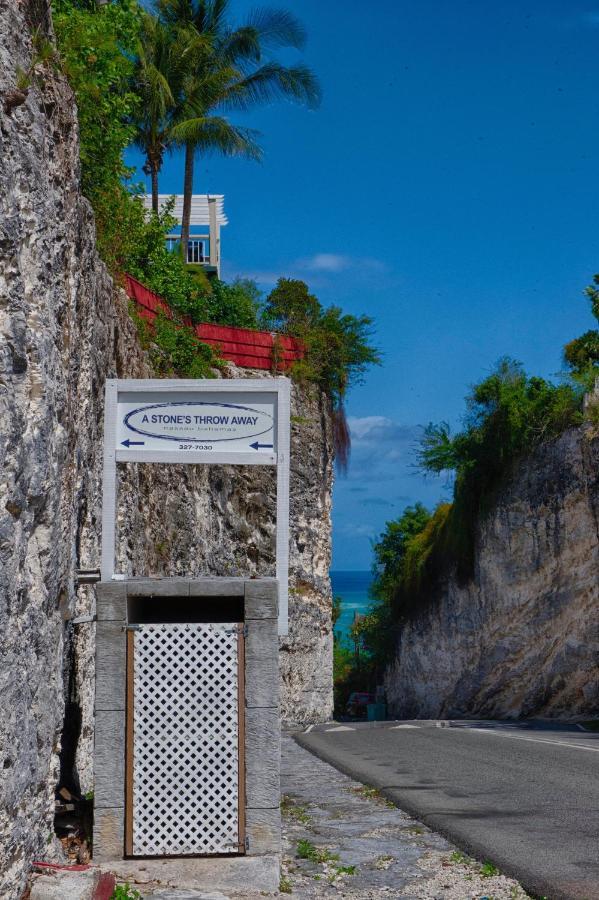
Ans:
{"type": "MultiPolygon", "coordinates": [[[[419,428],[459,425],[501,355],[551,376],[593,327],[599,3],[282,5],[307,26],[322,105],[237,117],[262,132],[264,162],[200,160],[195,190],[226,195],[225,277],[301,277],[376,320],[384,365],[348,398],[333,511],[334,567],[364,569],[388,519],[447,493],[414,472],[419,428]]],[[[160,189],[181,180],[171,157],[160,189]]]]}

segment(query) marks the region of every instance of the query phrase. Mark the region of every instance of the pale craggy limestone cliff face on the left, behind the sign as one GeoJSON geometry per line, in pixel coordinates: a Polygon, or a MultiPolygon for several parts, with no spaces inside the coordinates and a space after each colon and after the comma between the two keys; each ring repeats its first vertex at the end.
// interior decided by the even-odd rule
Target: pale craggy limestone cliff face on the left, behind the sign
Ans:
{"type": "MultiPolygon", "coordinates": [[[[0,100],[27,69],[44,0],[0,4],[0,100]]],[[[48,71],[10,113],[0,104],[0,896],[20,896],[53,846],[59,781],[92,789],[93,588],[99,564],[103,386],[151,375],[94,245],[79,191],[76,109],[48,71]]],[[[229,376],[236,374],[231,371],[229,376]]],[[[238,374],[238,373],[237,373],[238,374]]],[[[330,715],[332,628],[328,410],[294,390],[291,630],[283,708],[330,715]]],[[[272,569],[273,483],[251,471],[147,467],[122,478],[125,570],[272,569]],[[271,569],[269,569],[269,566],[271,569]]]]}

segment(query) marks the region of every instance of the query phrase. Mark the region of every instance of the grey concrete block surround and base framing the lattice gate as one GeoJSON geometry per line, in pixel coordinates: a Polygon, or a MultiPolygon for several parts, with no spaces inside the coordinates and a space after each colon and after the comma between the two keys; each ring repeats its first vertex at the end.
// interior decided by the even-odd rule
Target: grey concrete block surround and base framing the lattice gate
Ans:
{"type": "MultiPolygon", "coordinates": [[[[281,851],[281,724],[278,707],[278,583],[273,578],[131,578],[96,587],[93,861],[141,881],[196,889],[278,890],[281,851]],[[238,598],[245,638],[246,855],[124,859],[127,669],[132,603],[190,598],[201,606],[238,598]]],[[[176,777],[176,773],[175,777],[176,777]]],[[[126,880],[126,877],[123,877],[126,880]]]]}

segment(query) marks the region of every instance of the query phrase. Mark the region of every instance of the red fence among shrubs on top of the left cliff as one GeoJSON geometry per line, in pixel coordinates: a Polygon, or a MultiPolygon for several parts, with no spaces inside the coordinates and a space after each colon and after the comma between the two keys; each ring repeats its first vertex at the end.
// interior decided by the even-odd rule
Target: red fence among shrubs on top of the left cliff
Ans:
{"type": "MultiPolygon", "coordinates": [[[[166,300],[132,275],[125,275],[125,290],[146,322],[153,322],[159,313],[169,319],[174,318],[166,300]]],[[[246,369],[273,369],[276,363],[276,368],[284,371],[304,355],[299,341],[286,334],[213,325],[210,322],[193,326],[189,319],[183,321],[194,329],[200,340],[217,349],[223,359],[246,369]]]]}

